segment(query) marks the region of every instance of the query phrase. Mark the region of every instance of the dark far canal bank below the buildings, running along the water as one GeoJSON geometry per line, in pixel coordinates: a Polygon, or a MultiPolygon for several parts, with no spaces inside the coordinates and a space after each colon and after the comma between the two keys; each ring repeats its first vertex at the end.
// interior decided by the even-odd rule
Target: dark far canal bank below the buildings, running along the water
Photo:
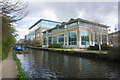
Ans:
{"type": "Polygon", "coordinates": [[[29,47],[29,48],[110,61],[108,58],[106,58],[106,56],[108,55],[107,51],[92,51],[92,50],[86,50],[86,49],[62,49],[62,48],[57,49],[57,48],[42,48],[42,47],[41,48],[29,47]]]}

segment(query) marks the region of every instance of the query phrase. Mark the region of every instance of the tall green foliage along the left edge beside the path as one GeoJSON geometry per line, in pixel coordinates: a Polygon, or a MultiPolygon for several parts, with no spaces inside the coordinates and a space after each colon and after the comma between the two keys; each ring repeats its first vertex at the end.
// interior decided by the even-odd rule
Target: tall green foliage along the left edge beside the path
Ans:
{"type": "Polygon", "coordinates": [[[10,17],[2,16],[2,60],[7,58],[10,47],[15,43],[15,29],[10,23],[10,17]]]}

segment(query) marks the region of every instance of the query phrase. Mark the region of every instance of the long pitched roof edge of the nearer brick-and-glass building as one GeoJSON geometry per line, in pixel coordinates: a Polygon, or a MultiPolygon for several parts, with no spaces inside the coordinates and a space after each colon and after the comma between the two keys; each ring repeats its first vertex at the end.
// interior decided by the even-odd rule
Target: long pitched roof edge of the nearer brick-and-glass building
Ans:
{"type": "MultiPolygon", "coordinates": [[[[105,28],[110,27],[110,26],[107,26],[107,25],[104,25],[104,24],[100,24],[100,23],[96,23],[96,22],[92,22],[92,21],[84,20],[84,19],[81,19],[81,18],[77,18],[77,19],[73,19],[73,18],[71,18],[68,22],[63,22],[61,25],[58,25],[58,26],[53,27],[53,28],[50,28],[50,29],[48,29],[48,30],[46,30],[46,31],[49,31],[49,30],[55,29],[55,28],[57,28],[57,27],[60,27],[60,26],[66,25],[66,24],[73,23],[73,22],[75,22],[75,21],[83,21],[83,22],[87,22],[87,23],[90,23],[90,24],[94,24],[94,25],[101,25],[102,27],[105,27],[105,28]]],[[[46,31],[44,31],[44,32],[46,32],[46,31]]]]}

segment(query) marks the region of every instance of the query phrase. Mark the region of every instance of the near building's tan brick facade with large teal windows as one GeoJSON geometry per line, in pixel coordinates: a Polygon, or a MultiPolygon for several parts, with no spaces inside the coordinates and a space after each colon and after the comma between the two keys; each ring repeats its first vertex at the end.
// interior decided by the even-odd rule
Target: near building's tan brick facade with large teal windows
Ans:
{"type": "Polygon", "coordinates": [[[109,26],[83,19],[72,19],[43,32],[42,47],[61,44],[67,48],[84,48],[95,44],[108,44],[109,26]]]}

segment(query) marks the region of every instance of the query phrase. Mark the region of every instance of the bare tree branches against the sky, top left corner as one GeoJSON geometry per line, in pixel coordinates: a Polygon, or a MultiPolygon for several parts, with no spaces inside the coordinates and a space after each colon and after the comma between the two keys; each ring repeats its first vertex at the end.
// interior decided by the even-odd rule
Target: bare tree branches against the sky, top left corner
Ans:
{"type": "Polygon", "coordinates": [[[9,16],[11,22],[19,21],[28,14],[28,11],[25,10],[27,3],[22,3],[19,0],[2,0],[0,1],[0,7],[2,8],[0,14],[9,16]]]}

